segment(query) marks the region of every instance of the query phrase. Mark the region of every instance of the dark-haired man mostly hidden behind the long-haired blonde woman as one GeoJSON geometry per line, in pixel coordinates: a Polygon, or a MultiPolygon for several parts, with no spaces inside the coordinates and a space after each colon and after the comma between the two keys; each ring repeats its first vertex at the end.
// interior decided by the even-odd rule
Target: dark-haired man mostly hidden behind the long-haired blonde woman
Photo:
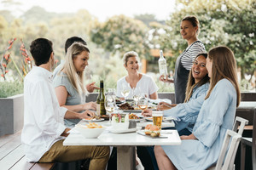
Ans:
{"type": "MultiPolygon", "coordinates": [[[[67,38],[67,40],[65,42],[65,54],[67,54],[67,48],[69,48],[73,44],[73,42],[81,42],[84,45],[87,45],[87,42],[85,42],[84,39],[81,37],[69,37],[69,38],[67,38]]],[[[55,68],[55,70],[53,71],[54,78],[58,74],[58,72],[61,71],[62,67],[63,67],[63,63],[61,62],[61,64],[58,65],[55,68]]],[[[94,91],[94,89],[100,89],[100,88],[95,86],[95,82],[91,82],[86,85],[86,89],[88,92],[92,93],[94,91]]]]}

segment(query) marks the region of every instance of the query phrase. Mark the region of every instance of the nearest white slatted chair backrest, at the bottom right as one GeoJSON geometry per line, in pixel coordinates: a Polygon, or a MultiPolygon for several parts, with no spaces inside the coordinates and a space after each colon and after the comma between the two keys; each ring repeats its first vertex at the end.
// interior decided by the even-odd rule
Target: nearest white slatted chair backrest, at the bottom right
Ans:
{"type": "Polygon", "coordinates": [[[241,134],[227,130],[220,155],[218,156],[218,161],[215,167],[216,170],[229,170],[230,167],[234,166],[235,160],[233,160],[233,156],[236,156],[236,150],[240,141],[241,134]]]}

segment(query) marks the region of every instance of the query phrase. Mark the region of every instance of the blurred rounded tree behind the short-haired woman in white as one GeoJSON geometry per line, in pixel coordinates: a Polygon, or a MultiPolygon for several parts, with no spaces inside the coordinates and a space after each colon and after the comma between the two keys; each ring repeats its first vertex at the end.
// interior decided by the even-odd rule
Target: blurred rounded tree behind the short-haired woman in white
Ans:
{"type": "Polygon", "coordinates": [[[147,58],[148,27],[140,20],[134,20],[124,15],[113,16],[105,23],[96,23],[90,32],[92,42],[108,52],[120,55],[134,50],[142,58],[147,58]]]}

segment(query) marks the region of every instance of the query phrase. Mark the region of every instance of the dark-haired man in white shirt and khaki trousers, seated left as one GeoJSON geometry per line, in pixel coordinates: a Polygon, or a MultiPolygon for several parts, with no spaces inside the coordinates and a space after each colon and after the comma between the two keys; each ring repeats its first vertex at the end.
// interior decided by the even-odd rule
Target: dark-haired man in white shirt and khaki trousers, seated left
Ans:
{"type": "Polygon", "coordinates": [[[60,107],[52,84],[55,58],[52,42],[45,38],[34,40],[30,46],[37,66],[33,66],[24,81],[24,127],[21,141],[26,161],[67,162],[90,158],[90,169],[105,169],[108,146],[63,146],[70,128],[64,118],[88,118],[91,111],[76,113],[60,107]]]}

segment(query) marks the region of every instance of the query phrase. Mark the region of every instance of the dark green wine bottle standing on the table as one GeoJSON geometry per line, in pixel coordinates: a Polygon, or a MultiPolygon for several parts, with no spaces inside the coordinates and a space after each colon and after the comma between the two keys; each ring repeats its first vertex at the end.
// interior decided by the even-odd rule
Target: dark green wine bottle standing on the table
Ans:
{"type": "Polygon", "coordinates": [[[100,82],[100,93],[99,93],[99,95],[97,97],[97,100],[96,100],[96,103],[97,103],[97,108],[96,108],[97,115],[100,115],[100,116],[106,115],[104,101],[105,101],[104,84],[103,84],[103,81],[101,80],[101,82],[100,82]]]}

